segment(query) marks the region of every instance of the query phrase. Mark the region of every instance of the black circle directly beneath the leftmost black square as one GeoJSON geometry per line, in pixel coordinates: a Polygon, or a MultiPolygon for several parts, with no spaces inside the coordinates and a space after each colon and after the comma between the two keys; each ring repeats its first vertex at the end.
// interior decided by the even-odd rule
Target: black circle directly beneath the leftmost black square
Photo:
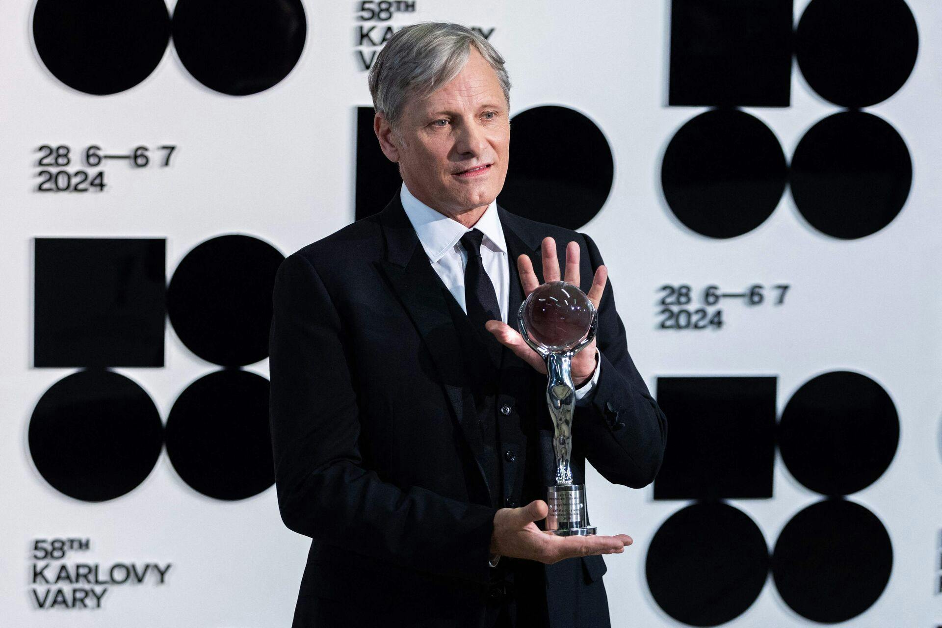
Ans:
{"type": "Polygon", "coordinates": [[[154,469],[163,425],[137,382],[114,371],[59,379],[36,404],[29,454],[54,489],[86,502],[133,491],[154,469]]]}

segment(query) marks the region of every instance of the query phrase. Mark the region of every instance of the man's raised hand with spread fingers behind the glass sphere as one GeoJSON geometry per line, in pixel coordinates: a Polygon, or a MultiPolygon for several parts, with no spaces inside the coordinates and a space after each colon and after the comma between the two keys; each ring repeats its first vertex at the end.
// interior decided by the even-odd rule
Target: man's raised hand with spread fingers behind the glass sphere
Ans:
{"type": "MultiPolygon", "coordinates": [[[[556,256],[556,240],[546,237],[543,240],[543,278],[545,282],[560,281],[560,260],[556,256]]],[[[524,298],[540,286],[540,280],[537,279],[536,272],[533,270],[533,263],[527,255],[521,255],[517,258],[517,270],[520,274],[520,284],[524,289],[524,298]]],[[[609,279],[609,270],[605,266],[599,266],[595,269],[592,288],[589,289],[587,297],[592,301],[595,309],[598,310],[599,301],[602,299],[602,293],[605,291],[605,283],[609,279]]],[[[562,281],[579,284],[579,245],[576,242],[570,242],[566,245],[566,276],[562,281]]],[[[511,313],[513,314],[513,313],[511,313]]],[[[510,318],[510,315],[508,316],[510,318]]],[[[540,357],[540,354],[529,347],[527,342],[520,335],[520,332],[514,330],[510,325],[499,320],[489,320],[485,323],[488,331],[494,334],[495,338],[502,345],[511,348],[514,354],[540,373],[546,373],[546,363],[540,357]]],[[[579,386],[586,379],[591,378],[595,372],[595,339],[580,350],[572,362],[573,384],[579,386]]]]}

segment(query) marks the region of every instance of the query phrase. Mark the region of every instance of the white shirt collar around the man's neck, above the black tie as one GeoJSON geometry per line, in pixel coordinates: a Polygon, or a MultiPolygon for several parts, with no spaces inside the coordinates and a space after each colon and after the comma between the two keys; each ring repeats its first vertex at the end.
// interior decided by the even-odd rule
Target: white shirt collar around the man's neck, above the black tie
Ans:
{"type": "Polygon", "coordinates": [[[497,249],[507,252],[504,230],[500,225],[500,217],[497,216],[496,199],[491,201],[471,228],[416,199],[404,183],[399,190],[399,200],[402,201],[402,209],[412,222],[418,240],[432,263],[442,259],[442,255],[458,244],[464,233],[472,229],[479,229],[480,233],[484,234],[484,242],[490,240],[497,249]]]}

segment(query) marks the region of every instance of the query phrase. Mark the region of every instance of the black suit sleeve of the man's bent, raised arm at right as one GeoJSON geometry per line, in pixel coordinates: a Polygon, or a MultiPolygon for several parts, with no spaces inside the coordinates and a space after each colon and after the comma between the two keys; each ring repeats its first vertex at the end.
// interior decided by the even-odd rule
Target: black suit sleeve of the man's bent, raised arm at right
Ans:
{"type": "MultiPolygon", "coordinates": [[[[592,238],[581,235],[594,272],[603,264],[602,255],[592,238]]],[[[667,443],[667,417],[628,354],[610,279],[599,302],[595,337],[599,378],[592,402],[577,410],[573,443],[610,482],[641,489],[658,475],[667,443]]]]}

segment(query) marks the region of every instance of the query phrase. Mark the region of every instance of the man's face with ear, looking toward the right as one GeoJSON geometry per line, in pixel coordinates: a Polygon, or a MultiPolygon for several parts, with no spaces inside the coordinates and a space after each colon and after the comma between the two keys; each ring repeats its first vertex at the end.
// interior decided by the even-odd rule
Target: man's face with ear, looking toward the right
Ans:
{"type": "Polygon", "coordinates": [[[456,217],[486,207],[504,186],[510,112],[496,73],[474,46],[450,83],[406,103],[392,133],[383,134],[382,123],[375,127],[383,153],[431,208],[456,217]]]}

